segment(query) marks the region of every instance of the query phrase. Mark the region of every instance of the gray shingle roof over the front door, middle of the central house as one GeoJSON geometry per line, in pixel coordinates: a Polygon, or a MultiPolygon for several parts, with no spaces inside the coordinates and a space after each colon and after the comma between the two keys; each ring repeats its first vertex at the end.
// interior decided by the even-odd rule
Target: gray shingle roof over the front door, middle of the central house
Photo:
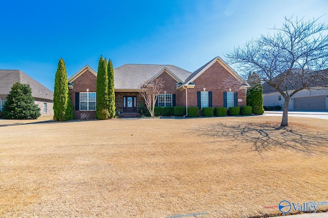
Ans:
{"type": "Polygon", "coordinates": [[[165,67],[183,82],[192,74],[173,65],[125,64],[114,69],[115,89],[138,89],[165,67]]]}

